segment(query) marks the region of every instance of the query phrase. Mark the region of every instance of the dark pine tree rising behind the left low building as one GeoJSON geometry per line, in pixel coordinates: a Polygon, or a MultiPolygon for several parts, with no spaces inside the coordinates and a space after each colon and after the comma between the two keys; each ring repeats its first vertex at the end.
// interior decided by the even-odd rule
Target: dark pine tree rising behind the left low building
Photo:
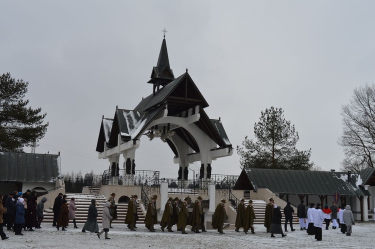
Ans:
{"type": "Polygon", "coordinates": [[[23,152],[23,146],[36,145],[47,131],[46,113],[27,107],[28,99],[23,100],[27,85],[10,73],[0,75],[0,151],[23,152]]]}

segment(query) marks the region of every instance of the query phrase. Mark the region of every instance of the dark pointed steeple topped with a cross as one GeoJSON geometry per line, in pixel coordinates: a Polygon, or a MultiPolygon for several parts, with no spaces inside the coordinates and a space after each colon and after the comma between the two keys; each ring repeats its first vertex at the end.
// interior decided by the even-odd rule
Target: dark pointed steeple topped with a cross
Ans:
{"type": "MultiPolygon", "coordinates": [[[[165,30],[162,30],[166,32],[165,30]]],[[[169,66],[168,51],[166,49],[165,33],[164,38],[161,42],[161,48],[159,57],[157,59],[157,65],[152,68],[151,79],[147,83],[153,84],[153,93],[155,88],[159,89],[159,86],[165,86],[170,81],[174,80],[173,70],[169,66]]],[[[157,91],[156,90],[156,91],[157,91]]]]}

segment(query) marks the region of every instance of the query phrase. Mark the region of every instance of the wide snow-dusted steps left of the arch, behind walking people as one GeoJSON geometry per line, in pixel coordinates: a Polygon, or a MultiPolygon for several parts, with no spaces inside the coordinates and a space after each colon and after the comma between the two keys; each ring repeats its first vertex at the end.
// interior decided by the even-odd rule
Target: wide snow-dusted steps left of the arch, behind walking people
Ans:
{"type": "MultiPolygon", "coordinates": [[[[77,223],[84,223],[87,219],[87,211],[88,206],[91,204],[91,199],[95,199],[97,203],[97,222],[101,223],[101,216],[103,213],[103,205],[107,201],[108,198],[106,198],[103,194],[100,193],[65,193],[67,195],[66,200],[70,201],[71,197],[74,197],[75,206],[77,209],[75,210],[75,220],[77,223]]],[[[117,205],[117,219],[113,220],[112,224],[115,223],[121,223],[123,224],[125,221],[125,216],[127,212],[127,203],[116,203],[117,205]]],[[[137,223],[143,223],[144,222],[144,214],[142,210],[139,207],[138,202],[138,221],[137,223]]],[[[43,222],[53,222],[53,212],[52,212],[52,206],[50,208],[44,209],[44,218],[43,222]]],[[[70,220],[69,223],[72,221],[70,220]]]]}

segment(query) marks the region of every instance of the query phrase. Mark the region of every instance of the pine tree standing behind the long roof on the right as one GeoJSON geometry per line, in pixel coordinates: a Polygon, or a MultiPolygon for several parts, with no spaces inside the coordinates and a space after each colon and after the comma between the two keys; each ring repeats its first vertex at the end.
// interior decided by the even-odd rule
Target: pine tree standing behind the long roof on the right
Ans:
{"type": "Polygon", "coordinates": [[[271,106],[261,111],[259,119],[254,124],[257,141],[245,136],[244,147],[237,146],[242,167],[309,170],[313,166],[309,162],[311,149],[296,149],[298,132],[285,120],[282,108],[271,106]]]}

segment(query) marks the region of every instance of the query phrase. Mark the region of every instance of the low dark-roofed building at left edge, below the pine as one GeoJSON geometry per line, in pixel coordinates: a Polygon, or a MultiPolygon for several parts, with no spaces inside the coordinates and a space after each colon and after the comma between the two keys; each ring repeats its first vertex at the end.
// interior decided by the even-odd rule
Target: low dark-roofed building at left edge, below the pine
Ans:
{"type": "Polygon", "coordinates": [[[30,189],[40,196],[56,187],[60,169],[59,154],[0,152],[1,193],[30,189]]]}

